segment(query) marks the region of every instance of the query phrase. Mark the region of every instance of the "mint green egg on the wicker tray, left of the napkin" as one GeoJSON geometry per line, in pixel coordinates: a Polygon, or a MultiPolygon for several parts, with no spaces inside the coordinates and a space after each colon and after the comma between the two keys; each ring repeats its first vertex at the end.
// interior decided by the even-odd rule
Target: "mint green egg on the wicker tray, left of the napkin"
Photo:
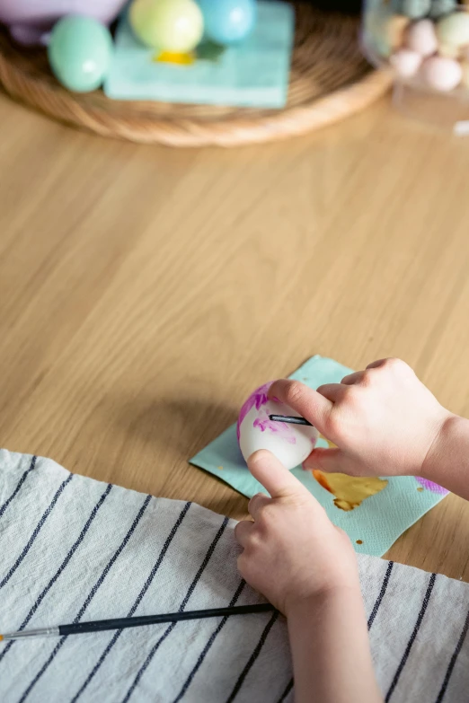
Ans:
{"type": "Polygon", "coordinates": [[[69,91],[94,91],[108,74],[112,48],[111,32],[101,22],[69,15],[51,32],[49,64],[59,83],[69,91]]]}

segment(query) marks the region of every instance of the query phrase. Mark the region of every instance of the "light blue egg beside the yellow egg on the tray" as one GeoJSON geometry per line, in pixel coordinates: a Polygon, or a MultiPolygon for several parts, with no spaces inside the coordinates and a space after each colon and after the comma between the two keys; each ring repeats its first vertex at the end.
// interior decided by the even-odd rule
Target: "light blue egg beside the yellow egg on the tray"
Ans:
{"type": "Polygon", "coordinates": [[[205,31],[217,44],[234,44],[245,39],[256,22],[255,0],[199,0],[205,31]]]}

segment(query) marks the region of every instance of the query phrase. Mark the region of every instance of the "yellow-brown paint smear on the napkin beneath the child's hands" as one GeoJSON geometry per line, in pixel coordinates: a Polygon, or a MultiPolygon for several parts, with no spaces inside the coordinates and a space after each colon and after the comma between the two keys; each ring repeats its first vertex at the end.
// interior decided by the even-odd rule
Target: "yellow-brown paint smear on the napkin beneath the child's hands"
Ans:
{"type": "Polygon", "coordinates": [[[313,476],[320,486],[335,496],[334,505],[345,511],[358,507],[369,496],[375,496],[388,484],[385,479],[363,479],[347,476],[344,473],[323,473],[319,469],[314,469],[313,476]]]}

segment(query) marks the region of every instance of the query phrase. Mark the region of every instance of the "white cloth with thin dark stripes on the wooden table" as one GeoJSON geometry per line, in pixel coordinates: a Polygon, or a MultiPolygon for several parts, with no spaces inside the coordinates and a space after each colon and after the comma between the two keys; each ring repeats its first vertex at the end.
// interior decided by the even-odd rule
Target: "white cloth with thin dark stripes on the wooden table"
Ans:
{"type": "MultiPolygon", "coordinates": [[[[261,602],[234,526],[0,451],[0,629],[261,602]]],[[[468,700],[469,586],[378,558],[359,569],[385,700],[468,700]]],[[[293,699],[277,612],[0,645],[5,703],[293,699]]]]}

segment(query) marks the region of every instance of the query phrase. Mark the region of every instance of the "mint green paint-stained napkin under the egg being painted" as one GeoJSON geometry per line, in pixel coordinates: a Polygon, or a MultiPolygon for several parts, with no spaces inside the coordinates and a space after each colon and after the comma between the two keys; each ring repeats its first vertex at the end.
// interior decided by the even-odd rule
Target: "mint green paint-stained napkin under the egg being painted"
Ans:
{"type": "MultiPolygon", "coordinates": [[[[333,359],[313,356],[290,378],[317,388],[323,383],[340,382],[347,373],[351,370],[333,359]]],[[[265,381],[259,379],[259,385],[265,381]]],[[[327,446],[327,443],[320,439],[318,446],[327,446]]],[[[244,496],[265,492],[247,469],[239,451],[235,425],[228,427],[190,463],[213,473],[244,496]]],[[[447,495],[445,489],[430,481],[411,476],[389,478],[388,485],[380,493],[366,498],[361,505],[346,513],[334,505],[334,496],[320,486],[309,471],[298,467],[293,473],[323,505],[332,523],[348,533],[355,549],[376,557],[381,557],[408,527],[447,495]],[[357,540],[361,543],[358,544],[357,540]]]]}

